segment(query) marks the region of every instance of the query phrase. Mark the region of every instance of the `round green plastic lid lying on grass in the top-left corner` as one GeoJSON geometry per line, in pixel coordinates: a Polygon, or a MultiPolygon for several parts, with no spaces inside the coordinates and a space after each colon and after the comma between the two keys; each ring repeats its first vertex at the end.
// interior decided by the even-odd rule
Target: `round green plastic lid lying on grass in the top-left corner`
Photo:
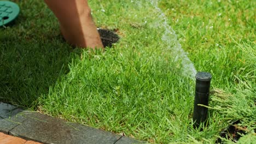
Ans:
{"type": "Polygon", "coordinates": [[[13,22],[20,13],[20,8],[16,3],[0,1],[0,26],[13,22]]]}

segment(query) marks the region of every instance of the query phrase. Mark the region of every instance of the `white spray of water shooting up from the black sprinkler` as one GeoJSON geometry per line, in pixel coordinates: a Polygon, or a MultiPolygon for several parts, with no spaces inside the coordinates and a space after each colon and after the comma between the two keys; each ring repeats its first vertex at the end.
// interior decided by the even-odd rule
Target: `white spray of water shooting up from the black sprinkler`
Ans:
{"type": "MultiPolygon", "coordinates": [[[[135,27],[149,26],[155,35],[154,37],[147,37],[146,39],[152,39],[154,42],[161,43],[159,49],[161,49],[164,55],[168,55],[168,61],[176,63],[177,68],[181,69],[180,73],[185,77],[190,77],[195,80],[197,73],[193,62],[190,61],[187,56],[187,52],[182,49],[181,44],[177,39],[177,35],[170,25],[168,25],[167,16],[158,7],[159,0],[131,0],[120,2],[120,5],[124,8],[120,11],[121,16],[126,16],[126,19],[135,23],[135,27]],[[122,12],[124,12],[122,14],[122,12]],[[137,26],[136,26],[137,25],[137,26]],[[156,36],[157,35],[157,36],[156,36]]],[[[104,9],[101,9],[105,13],[104,9]]],[[[126,21],[127,22],[127,21],[126,21]]],[[[145,35],[145,34],[144,34],[145,35]]],[[[142,37],[144,37],[142,34],[142,37]]],[[[163,56],[164,58],[164,56],[163,56]]]]}

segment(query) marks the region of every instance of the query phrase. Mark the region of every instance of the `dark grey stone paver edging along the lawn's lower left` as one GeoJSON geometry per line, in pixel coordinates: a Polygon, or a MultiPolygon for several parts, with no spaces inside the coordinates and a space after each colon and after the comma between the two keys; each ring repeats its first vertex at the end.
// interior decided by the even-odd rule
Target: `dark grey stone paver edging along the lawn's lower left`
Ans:
{"type": "Polygon", "coordinates": [[[40,143],[142,143],[126,136],[68,123],[38,112],[0,103],[0,133],[40,143]]]}

